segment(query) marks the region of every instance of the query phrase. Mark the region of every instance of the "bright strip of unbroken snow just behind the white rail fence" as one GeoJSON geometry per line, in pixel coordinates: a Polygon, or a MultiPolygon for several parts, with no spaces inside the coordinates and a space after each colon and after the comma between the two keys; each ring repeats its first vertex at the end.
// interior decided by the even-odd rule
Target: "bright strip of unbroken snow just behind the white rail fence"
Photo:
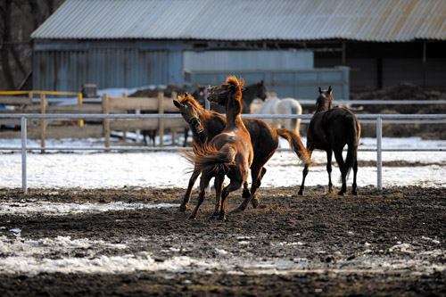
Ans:
{"type": "MultiPolygon", "coordinates": [[[[306,142],[302,137],[303,143],[306,142]]],[[[0,147],[20,147],[20,139],[0,139],[0,147]]],[[[46,146],[103,146],[101,139],[48,140],[46,146]]],[[[111,144],[116,145],[116,144],[111,144]]],[[[38,147],[39,142],[28,141],[28,147],[38,147]]],[[[287,147],[281,140],[281,147],[287,147]]],[[[446,141],[419,138],[384,138],[383,148],[446,148],[446,141]]],[[[364,138],[359,149],[376,148],[376,139],[364,138]]],[[[48,187],[186,187],[188,164],[177,152],[101,153],[90,151],[28,153],[29,188],[48,187]]],[[[21,153],[0,151],[2,178],[0,187],[21,187],[21,153]]],[[[320,165],[313,166],[306,180],[307,186],[327,184],[326,155],[316,151],[313,158],[320,165]]],[[[375,152],[359,152],[359,161],[376,161],[375,152]]],[[[410,161],[421,165],[383,168],[383,186],[446,186],[446,152],[384,152],[383,161],[410,161]],[[423,165],[425,164],[425,165],[423,165]]],[[[334,160],[335,164],[335,160],[334,160]]],[[[301,162],[294,153],[277,152],[268,161],[267,174],[262,186],[298,186],[301,183],[301,162]]],[[[340,177],[335,168],[332,173],[335,186],[340,177]]],[[[360,167],[358,185],[376,186],[376,166],[360,167]]]]}

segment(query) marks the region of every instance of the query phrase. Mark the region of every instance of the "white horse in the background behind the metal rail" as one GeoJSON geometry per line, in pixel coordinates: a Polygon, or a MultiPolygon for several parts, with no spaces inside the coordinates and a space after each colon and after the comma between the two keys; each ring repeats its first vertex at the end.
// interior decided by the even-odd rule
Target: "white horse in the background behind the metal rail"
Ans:
{"type": "MultiPolygon", "coordinates": [[[[301,103],[294,98],[279,99],[270,97],[262,103],[254,114],[302,114],[301,103]]],[[[264,119],[273,128],[287,128],[300,136],[301,119],[264,119]]]]}

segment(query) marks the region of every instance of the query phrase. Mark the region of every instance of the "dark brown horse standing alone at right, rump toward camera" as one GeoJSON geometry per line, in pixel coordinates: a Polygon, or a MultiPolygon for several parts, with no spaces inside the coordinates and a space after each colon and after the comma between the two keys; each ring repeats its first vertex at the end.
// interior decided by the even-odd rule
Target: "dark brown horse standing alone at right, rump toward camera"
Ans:
{"type": "MultiPolygon", "coordinates": [[[[333,192],[332,184],[332,154],[341,170],[343,187],[338,194],[347,192],[346,179],[353,169],[353,184],[351,194],[358,194],[356,185],[356,174],[358,172],[358,144],[360,136],[360,125],[356,116],[344,107],[333,107],[332,87],[321,90],[316,100],[316,112],[310,120],[307,132],[307,150],[311,154],[313,150],[326,151],[326,171],[328,172],[328,192],[333,192]],[[343,160],[343,147],[347,145],[347,156],[343,160]]],[[[302,184],[299,194],[303,194],[305,177],[308,174],[308,166],[303,169],[302,184]]]]}

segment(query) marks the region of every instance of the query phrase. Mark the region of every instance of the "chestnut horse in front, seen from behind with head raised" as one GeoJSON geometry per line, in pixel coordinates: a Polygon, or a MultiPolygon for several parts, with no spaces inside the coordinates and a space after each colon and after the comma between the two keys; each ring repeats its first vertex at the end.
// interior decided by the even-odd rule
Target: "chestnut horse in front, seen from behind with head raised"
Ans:
{"type": "Polygon", "coordinates": [[[226,218],[228,194],[239,189],[248,179],[254,153],[251,136],[240,116],[243,85],[242,78],[239,81],[235,77],[228,77],[226,84],[211,88],[208,100],[225,105],[227,123],[223,131],[213,137],[209,144],[195,148],[197,154],[186,154],[188,160],[194,162],[195,169],[202,171],[200,194],[191,219],[196,218],[211,177],[216,178],[216,185],[223,185],[225,176],[230,179],[229,185],[221,191],[220,219],[226,218]]]}

